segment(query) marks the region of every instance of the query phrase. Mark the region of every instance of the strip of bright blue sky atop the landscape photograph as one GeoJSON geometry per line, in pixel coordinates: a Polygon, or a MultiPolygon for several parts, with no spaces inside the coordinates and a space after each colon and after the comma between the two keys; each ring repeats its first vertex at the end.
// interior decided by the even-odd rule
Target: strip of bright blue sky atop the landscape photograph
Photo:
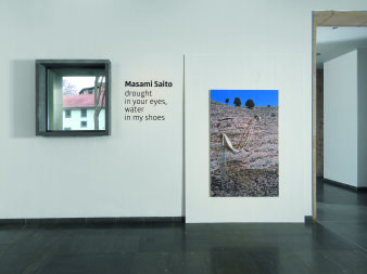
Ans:
{"type": "Polygon", "coordinates": [[[235,105],[235,97],[240,97],[241,106],[244,106],[249,99],[252,99],[256,106],[278,106],[278,90],[211,90],[211,100],[228,105],[235,105]]]}

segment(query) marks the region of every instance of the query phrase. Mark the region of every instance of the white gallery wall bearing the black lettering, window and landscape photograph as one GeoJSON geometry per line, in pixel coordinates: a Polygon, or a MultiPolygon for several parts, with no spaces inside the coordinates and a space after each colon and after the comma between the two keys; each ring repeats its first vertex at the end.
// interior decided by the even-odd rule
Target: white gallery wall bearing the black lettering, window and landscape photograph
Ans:
{"type": "Polygon", "coordinates": [[[367,3],[1,0],[0,218],[303,221],[312,214],[313,10],[367,3]],[[35,136],[36,58],[111,60],[110,136],[35,136]],[[174,83],[155,93],[169,102],[166,120],[124,120],[124,81],[151,78],[174,83]],[[208,198],[214,88],[279,89],[279,198],[208,198]]]}

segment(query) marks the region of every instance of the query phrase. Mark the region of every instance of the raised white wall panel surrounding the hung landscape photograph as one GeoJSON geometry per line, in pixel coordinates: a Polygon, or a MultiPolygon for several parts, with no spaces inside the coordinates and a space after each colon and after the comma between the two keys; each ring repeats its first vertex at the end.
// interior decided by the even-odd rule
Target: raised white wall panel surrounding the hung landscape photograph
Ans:
{"type": "MultiPolygon", "coordinates": [[[[188,58],[186,94],[186,170],[188,222],[302,222],[306,177],[307,104],[294,104],[306,94],[306,71],[294,66],[302,55],[192,56],[188,58]],[[278,64],[281,63],[281,69],[278,64]],[[294,82],[290,81],[294,80],[294,82]],[[279,197],[210,197],[210,100],[212,89],[279,90],[279,197]],[[191,91],[191,92],[190,92],[191,91]],[[206,91],[206,92],[205,92],[206,91]],[[191,126],[195,121],[194,126],[191,126]],[[292,148],[291,148],[292,147],[292,148]],[[198,152],[201,151],[201,154],[198,152]],[[294,160],[294,159],[298,160],[294,160]],[[292,172],[289,172],[292,170],[292,172]],[[300,182],[300,183],[299,183],[300,182]],[[289,207],[289,205],[294,205],[289,207]]],[[[309,148],[309,147],[308,147],[309,148]]]]}

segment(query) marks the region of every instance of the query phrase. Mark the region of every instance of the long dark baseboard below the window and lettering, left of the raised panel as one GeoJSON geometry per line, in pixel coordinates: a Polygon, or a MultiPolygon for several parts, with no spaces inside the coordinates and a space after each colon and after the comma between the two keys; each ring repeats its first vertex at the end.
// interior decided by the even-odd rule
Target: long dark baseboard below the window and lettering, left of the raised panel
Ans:
{"type": "Polygon", "coordinates": [[[116,218],[29,218],[0,219],[0,224],[124,224],[185,223],[185,217],[116,217],[116,218]]]}

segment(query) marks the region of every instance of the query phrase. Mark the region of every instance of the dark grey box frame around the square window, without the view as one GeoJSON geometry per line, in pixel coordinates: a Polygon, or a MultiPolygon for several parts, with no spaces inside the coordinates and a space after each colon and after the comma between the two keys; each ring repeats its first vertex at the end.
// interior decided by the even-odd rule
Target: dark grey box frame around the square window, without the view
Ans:
{"type": "Polygon", "coordinates": [[[36,60],[36,135],[102,136],[111,134],[111,62],[109,60],[36,60]],[[105,73],[104,130],[48,130],[48,70],[59,68],[103,69],[105,73]]]}

